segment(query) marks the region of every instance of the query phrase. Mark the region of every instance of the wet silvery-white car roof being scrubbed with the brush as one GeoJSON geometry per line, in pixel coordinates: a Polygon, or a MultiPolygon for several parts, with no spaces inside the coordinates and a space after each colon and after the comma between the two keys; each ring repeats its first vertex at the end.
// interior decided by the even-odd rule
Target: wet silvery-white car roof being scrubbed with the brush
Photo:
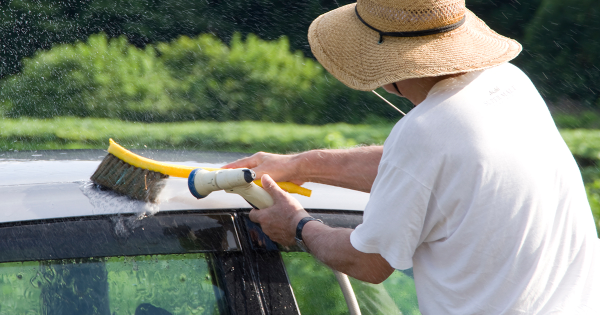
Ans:
{"type": "MultiPolygon", "coordinates": [[[[169,150],[131,150],[173,164],[220,167],[247,154],[169,150]]],[[[158,211],[250,209],[242,197],[215,191],[196,199],[187,179],[169,178],[156,204],[95,188],[90,176],[106,156],[99,149],[0,152],[0,223],[88,215],[158,211]]],[[[306,183],[311,197],[293,194],[305,209],[362,211],[368,193],[306,183]]]]}

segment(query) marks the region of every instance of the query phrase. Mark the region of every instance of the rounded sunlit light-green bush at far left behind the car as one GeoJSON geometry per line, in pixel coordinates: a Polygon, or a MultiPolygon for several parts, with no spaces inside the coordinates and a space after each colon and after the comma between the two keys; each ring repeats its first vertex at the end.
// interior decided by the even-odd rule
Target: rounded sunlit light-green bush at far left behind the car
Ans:
{"type": "Polygon", "coordinates": [[[5,115],[100,116],[143,119],[185,110],[169,99],[175,82],[152,47],[97,35],[87,43],[58,45],[25,59],[25,68],[2,83],[5,115]]]}

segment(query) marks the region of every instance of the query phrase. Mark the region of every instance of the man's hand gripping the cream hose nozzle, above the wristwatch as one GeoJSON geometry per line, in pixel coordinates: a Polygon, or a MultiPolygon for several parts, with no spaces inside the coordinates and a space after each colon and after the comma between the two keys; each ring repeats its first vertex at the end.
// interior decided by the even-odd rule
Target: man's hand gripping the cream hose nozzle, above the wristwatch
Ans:
{"type": "Polygon", "coordinates": [[[260,224],[263,232],[272,241],[284,246],[296,244],[296,226],[308,212],[302,208],[298,200],[281,190],[269,175],[261,178],[262,186],[273,197],[273,205],[265,209],[250,211],[250,220],[260,224]]]}

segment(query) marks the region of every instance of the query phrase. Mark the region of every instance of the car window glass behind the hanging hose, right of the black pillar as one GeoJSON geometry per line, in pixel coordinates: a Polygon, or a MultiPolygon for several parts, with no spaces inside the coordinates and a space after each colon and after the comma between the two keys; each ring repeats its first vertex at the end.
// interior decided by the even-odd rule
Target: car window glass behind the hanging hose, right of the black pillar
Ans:
{"type": "MultiPolygon", "coordinates": [[[[302,315],[347,314],[348,308],[331,269],[308,253],[281,253],[302,315]]],[[[350,278],[361,313],[417,315],[415,281],[400,271],[381,284],[350,278]]]]}

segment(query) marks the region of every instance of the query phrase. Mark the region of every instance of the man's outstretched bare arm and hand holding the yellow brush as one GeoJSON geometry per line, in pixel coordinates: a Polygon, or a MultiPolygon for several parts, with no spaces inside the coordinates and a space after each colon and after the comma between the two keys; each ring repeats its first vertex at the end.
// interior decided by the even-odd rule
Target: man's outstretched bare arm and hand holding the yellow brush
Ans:
{"type": "Polygon", "coordinates": [[[224,168],[248,167],[257,177],[269,174],[277,182],[318,182],[368,193],[382,154],[383,146],[312,150],[291,155],[258,152],[224,168]]]}

